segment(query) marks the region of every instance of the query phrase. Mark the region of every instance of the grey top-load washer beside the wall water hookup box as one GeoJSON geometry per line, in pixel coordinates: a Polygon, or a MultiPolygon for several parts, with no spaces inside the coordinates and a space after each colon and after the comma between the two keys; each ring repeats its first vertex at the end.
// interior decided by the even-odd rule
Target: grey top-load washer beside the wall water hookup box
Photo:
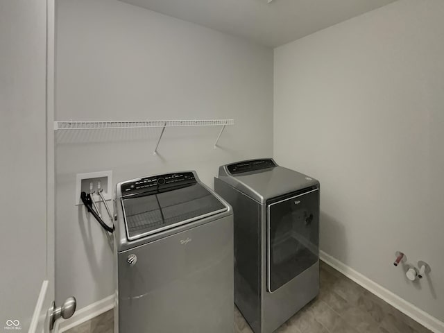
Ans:
{"type": "Polygon", "coordinates": [[[233,332],[232,208],[178,172],[117,184],[115,333],[233,332]]]}

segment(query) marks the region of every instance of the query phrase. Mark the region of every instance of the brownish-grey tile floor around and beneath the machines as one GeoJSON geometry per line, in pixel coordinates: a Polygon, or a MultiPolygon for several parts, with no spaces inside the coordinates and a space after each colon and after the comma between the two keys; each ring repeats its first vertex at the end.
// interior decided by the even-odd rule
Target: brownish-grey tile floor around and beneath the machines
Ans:
{"type": "MultiPolygon", "coordinates": [[[[67,330],[66,333],[113,333],[112,316],[112,310],[107,311],[92,318],[91,321],[67,330]]],[[[239,310],[234,307],[234,333],[252,332],[239,310]]],[[[430,331],[323,262],[321,262],[319,296],[275,331],[275,333],[364,332],[430,331]]]]}

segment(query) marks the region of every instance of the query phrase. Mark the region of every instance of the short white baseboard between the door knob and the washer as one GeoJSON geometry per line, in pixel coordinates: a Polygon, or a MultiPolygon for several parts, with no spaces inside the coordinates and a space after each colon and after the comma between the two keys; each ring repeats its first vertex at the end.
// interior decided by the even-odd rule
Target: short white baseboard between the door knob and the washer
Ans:
{"type": "Polygon", "coordinates": [[[103,312],[106,312],[113,307],[114,295],[110,295],[103,298],[103,300],[99,300],[91,305],[88,305],[87,307],[77,310],[71,318],[65,321],[60,321],[58,324],[58,331],[56,332],[65,332],[72,327],[85,323],[85,321],[89,321],[89,319],[92,319],[95,316],[99,316],[99,314],[103,314],[103,312]]]}

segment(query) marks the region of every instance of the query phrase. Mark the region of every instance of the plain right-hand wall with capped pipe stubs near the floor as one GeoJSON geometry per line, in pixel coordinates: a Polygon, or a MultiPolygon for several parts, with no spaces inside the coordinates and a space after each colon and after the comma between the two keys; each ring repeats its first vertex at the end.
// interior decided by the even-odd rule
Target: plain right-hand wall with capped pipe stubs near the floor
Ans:
{"type": "Polygon", "coordinates": [[[443,17],[442,0],[397,1],[275,49],[274,74],[275,158],[321,180],[321,250],[441,321],[443,17]]]}

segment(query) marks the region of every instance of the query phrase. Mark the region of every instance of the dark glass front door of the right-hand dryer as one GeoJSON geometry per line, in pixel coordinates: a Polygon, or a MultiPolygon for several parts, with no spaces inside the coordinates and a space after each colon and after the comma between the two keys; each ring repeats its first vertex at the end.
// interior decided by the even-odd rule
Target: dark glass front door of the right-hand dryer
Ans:
{"type": "Polygon", "coordinates": [[[296,278],[319,258],[319,190],[271,201],[267,206],[268,291],[296,278]]]}

